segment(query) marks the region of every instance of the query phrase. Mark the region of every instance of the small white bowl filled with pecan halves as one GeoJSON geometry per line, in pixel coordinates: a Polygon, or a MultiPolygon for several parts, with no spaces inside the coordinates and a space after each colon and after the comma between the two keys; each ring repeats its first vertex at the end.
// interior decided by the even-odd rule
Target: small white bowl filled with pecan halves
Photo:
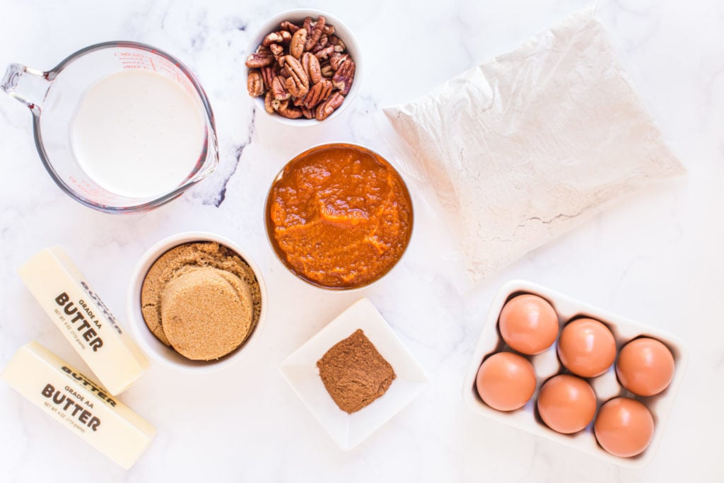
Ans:
{"type": "Polygon", "coordinates": [[[248,51],[249,95],[279,122],[319,124],[340,114],[359,91],[359,47],[350,30],[324,12],[276,15],[248,51]]]}

